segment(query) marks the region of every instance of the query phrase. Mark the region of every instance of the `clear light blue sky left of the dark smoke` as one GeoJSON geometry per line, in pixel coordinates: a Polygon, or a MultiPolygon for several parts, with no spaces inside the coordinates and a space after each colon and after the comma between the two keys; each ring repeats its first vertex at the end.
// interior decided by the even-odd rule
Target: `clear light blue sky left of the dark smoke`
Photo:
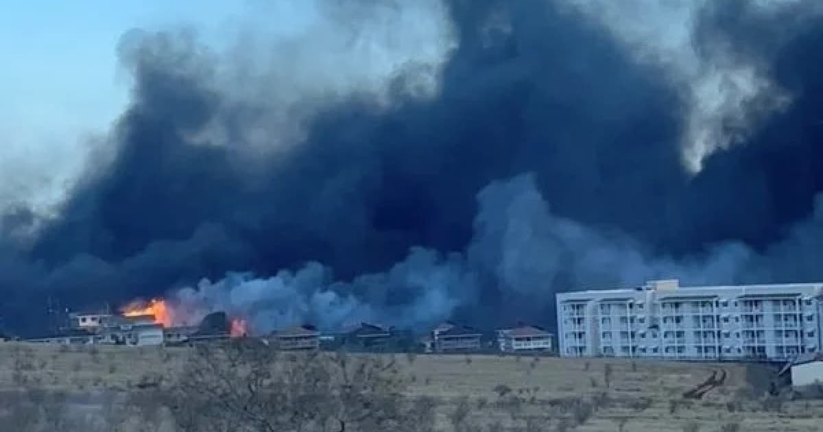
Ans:
{"type": "MultiPolygon", "coordinates": [[[[54,202],[128,101],[124,32],[194,26],[220,39],[248,2],[0,2],[0,207],[54,202]],[[45,192],[44,192],[45,191],[45,192]]],[[[235,22],[236,24],[236,22],[235,22]]]]}

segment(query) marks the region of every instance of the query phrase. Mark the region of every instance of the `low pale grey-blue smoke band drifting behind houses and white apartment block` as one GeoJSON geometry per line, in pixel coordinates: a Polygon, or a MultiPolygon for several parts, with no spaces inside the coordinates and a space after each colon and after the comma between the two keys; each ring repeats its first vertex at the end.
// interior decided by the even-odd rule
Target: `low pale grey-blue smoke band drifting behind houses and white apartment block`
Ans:
{"type": "Polygon", "coordinates": [[[296,323],[337,329],[362,321],[422,328],[461,309],[477,311],[477,321],[486,323],[551,321],[546,311],[556,292],[639,286],[654,278],[718,285],[823,276],[816,247],[823,239],[823,201],[811,220],[765,253],[728,243],[676,259],[655,256],[621,233],[553,215],[530,174],[493,182],[477,198],[475,233],[464,253],[413,248],[388,271],[353,281],[333,281],[317,262],[272,277],[232,274],[176,291],[172,300],[197,318],[217,310],[244,317],[254,332],[296,323]],[[491,310],[496,317],[479,304],[488,290],[504,297],[491,310]]]}

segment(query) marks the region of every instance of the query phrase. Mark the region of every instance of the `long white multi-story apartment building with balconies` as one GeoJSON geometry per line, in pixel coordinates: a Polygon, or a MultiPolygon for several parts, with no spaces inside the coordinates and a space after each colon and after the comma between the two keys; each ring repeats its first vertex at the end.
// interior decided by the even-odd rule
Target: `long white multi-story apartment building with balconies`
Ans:
{"type": "Polygon", "coordinates": [[[557,295],[560,355],[791,360],[821,346],[823,283],[679,286],[557,295]]]}

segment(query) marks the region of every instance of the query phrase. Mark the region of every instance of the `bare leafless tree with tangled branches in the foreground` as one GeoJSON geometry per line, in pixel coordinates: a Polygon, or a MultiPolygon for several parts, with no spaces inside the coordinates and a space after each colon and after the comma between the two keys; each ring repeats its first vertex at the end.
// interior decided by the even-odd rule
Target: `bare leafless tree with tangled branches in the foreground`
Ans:
{"type": "Polygon", "coordinates": [[[168,405],[184,431],[418,430],[434,406],[403,396],[393,358],[284,353],[253,341],[196,346],[168,405]]]}

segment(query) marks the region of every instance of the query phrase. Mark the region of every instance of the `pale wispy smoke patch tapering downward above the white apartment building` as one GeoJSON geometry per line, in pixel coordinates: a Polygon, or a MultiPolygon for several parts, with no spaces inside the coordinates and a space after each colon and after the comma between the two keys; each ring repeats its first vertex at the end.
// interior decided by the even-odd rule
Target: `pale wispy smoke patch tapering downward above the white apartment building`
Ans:
{"type": "MultiPolygon", "coordinates": [[[[715,152],[744,141],[757,123],[783,109],[791,95],[770,81],[768,65],[736,56],[734,47],[695,45],[696,18],[714,0],[573,0],[623,41],[641,62],[663,67],[686,102],[681,154],[692,173],[715,152]]],[[[797,2],[761,0],[751,7],[777,13],[797,2]]]]}

